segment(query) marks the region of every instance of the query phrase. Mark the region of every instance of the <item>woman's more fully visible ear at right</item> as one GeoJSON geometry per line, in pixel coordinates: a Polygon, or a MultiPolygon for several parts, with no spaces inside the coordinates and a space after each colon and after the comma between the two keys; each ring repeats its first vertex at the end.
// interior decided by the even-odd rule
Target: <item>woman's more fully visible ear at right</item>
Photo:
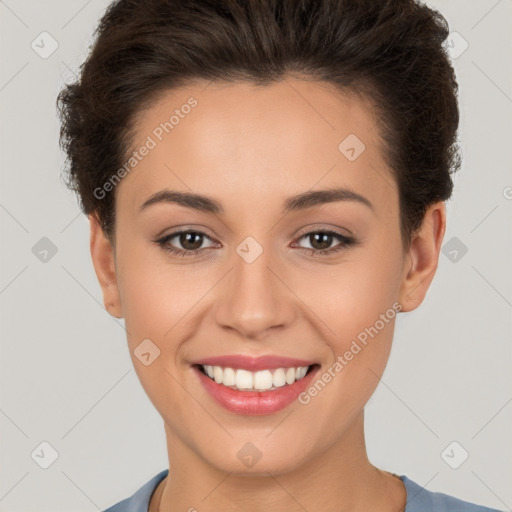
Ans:
{"type": "Polygon", "coordinates": [[[420,228],[412,236],[404,259],[401,311],[412,311],[423,302],[437,269],[445,230],[446,207],[444,201],[440,201],[427,209],[420,228]]]}

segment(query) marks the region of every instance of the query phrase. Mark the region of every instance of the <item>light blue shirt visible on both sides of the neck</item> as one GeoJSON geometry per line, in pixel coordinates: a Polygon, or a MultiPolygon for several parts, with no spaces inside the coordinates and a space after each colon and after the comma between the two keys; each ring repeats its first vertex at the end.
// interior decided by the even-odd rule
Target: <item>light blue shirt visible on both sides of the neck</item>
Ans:
{"type": "MultiPolygon", "coordinates": [[[[169,470],[164,469],[146,482],[133,496],[103,512],[148,512],[151,495],[168,473],[169,470]]],[[[500,512],[497,509],[475,505],[441,492],[428,491],[405,475],[399,476],[407,491],[405,512],[500,512]]]]}

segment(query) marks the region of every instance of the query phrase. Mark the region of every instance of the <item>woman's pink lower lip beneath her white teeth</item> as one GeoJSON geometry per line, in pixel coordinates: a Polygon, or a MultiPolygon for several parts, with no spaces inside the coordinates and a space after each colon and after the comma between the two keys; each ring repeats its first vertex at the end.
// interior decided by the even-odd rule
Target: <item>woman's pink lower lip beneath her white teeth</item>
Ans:
{"type": "Polygon", "coordinates": [[[272,414],[290,405],[310,385],[320,367],[314,366],[302,379],[272,391],[231,389],[210,379],[197,366],[193,368],[207,393],[222,407],[237,414],[255,416],[272,414]]]}

